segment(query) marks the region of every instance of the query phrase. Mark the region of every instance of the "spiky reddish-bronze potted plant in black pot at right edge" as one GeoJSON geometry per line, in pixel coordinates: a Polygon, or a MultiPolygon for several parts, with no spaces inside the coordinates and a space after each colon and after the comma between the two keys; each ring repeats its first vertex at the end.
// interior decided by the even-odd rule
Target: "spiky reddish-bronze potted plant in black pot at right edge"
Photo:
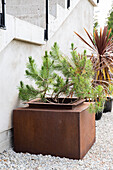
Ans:
{"type": "MultiPolygon", "coordinates": [[[[77,32],[75,34],[92,50],[92,56],[90,60],[93,65],[93,70],[95,72],[93,77],[93,86],[101,84],[104,88],[106,95],[108,96],[105,102],[104,112],[110,111],[112,109],[112,101],[109,95],[113,91],[113,82],[112,82],[112,73],[113,73],[113,41],[110,37],[111,29],[108,30],[107,26],[100,28],[100,34],[95,29],[93,36],[84,29],[89,40],[91,41],[90,45],[83,37],[81,37],[77,32]],[[109,38],[110,37],[110,38],[109,38]],[[109,106],[109,107],[108,107],[109,106]]],[[[96,114],[96,118],[99,119],[101,112],[96,114]],[[98,117],[99,116],[99,117],[98,117]]]]}

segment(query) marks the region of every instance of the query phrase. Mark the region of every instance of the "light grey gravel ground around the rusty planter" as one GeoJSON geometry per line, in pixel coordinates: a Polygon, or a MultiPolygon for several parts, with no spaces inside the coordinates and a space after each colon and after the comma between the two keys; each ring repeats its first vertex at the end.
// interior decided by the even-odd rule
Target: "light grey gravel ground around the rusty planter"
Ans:
{"type": "Polygon", "coordinates": [[[15,153],[0,154],[0,170],[113,170],[113,112],[96,122],[96,142],[83,160],[15,153]]]}

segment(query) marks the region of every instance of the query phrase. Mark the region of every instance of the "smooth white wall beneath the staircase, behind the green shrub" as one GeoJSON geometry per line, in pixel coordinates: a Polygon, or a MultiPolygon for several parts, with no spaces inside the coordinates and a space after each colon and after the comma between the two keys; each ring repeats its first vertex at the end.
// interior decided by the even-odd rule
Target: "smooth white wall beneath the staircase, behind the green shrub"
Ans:
{"type": "Polygon", "coordinates": [[[66,55],[69,54],[72,42],[80,47],[79,52],[83,52],[81,50],[83,44],[74,31],[84,37],[86,36],[83,27],[90,32],[93,31],[93,8],[88,0],[81,0],[59,30],[43,46],[13,40],[0,52],[0,135],[12,128],[12,111],[20,104],[17,87],[20,80],[25,79],[28,57],[35,58],[40,66],[41,56],[45,50],[51,49],[54,42],[58,42],[61,51],[66,55]]]}

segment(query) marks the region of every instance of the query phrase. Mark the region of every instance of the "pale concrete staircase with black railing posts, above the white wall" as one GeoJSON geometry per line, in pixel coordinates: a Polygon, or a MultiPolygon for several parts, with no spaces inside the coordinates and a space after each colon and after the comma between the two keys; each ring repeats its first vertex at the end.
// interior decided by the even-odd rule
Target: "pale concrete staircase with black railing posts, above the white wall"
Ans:
{"type": "MultiPolygon", "coordinates": [[[[8,0],[6,3],[6,30],[0,29],[0,51],[13,39],[44,45],[47,0],[8,0]],[[27,21],[27,22],[26,22],[27,21]]],[[[96,6],[97,0],[90,1],[96,6]]],[[[80,0],[48,0],[48,37],[57,32],[80,0]]],[[[1,4],[0,4],[1,7],[1,4]]]]}

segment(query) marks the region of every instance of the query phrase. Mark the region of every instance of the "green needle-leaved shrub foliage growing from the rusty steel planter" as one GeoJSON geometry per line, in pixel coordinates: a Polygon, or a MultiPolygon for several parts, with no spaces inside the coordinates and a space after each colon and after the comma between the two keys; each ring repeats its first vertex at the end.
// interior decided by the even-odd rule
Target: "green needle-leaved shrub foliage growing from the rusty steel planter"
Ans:
{"type": "Polygon", "coordinates": [[[81,55],[77,54],[74,44],[71,44],[71,57],[64,57],[57,43],[54,43],[50,54],[45,52],[40,70],[32,57],[29,57],[26,77],[34,80],[35,88],[20,82],[19,97],[23,101],[36,97],[45,101],[47,97],[51,97],[54,102],[58,102],[61,96],[85,98],[95,101],[95,105],[91,104],[90,111],[102,110],[103,87],[92,86],[93,75],[92,63],[87,59],[86,51],[81,55]]]}

